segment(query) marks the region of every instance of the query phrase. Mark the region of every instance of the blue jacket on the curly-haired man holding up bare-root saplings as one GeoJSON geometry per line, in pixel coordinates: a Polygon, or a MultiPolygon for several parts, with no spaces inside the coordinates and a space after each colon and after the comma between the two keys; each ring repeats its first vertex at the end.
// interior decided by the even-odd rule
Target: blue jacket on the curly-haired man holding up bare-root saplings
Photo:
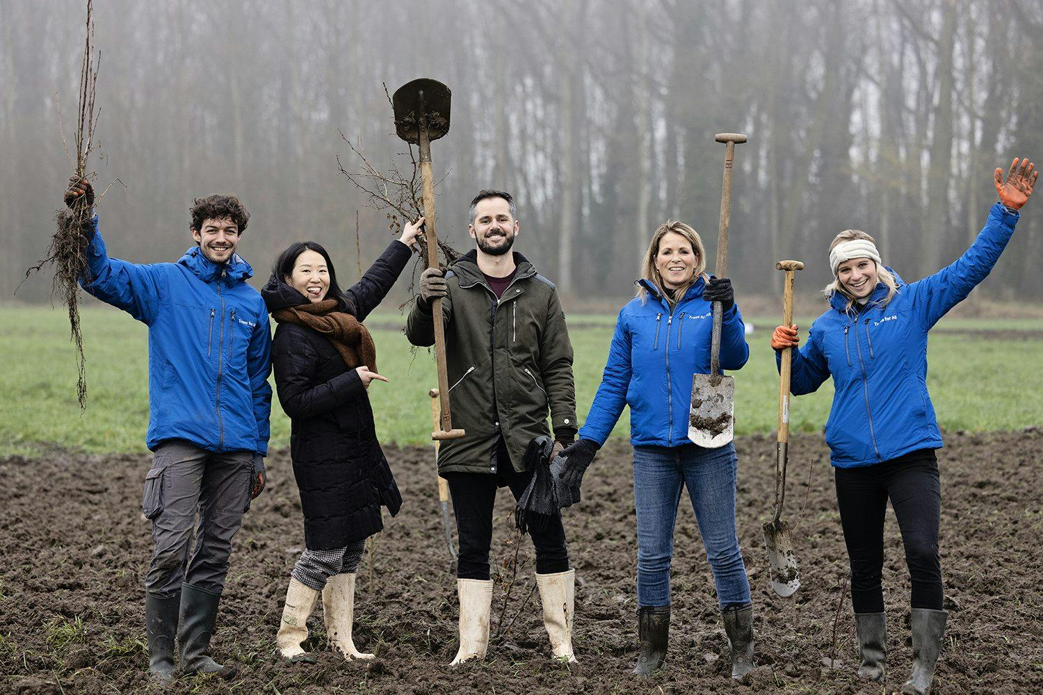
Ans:
{"type": "Polygon", "coordinates": [[[83,289],[148,326],[148,448],[171,439],[209,451],[268,451],[271,330],[239,254],[223,266],[198,247],[176,264],[110,258],[98,233],[83,289]]]}

